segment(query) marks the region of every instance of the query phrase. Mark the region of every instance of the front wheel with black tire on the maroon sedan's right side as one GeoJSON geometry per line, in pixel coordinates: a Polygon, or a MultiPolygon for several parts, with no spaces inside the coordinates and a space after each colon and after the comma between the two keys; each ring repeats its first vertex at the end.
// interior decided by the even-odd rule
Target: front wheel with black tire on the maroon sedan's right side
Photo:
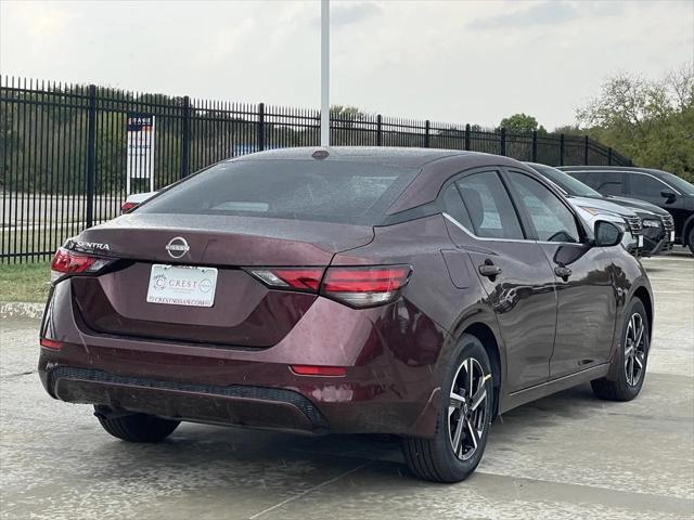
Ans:
{"type": "Polygon", "coordinates": [[[631,401],[639,395],[646,376],[650,348],[651,329],[646,310],[643,307],[643,302],[639,298],[634,298],[625,312],[625,323],[621,326],[618,351],[613,360],[613,363],[617,363],[617,366],[612,367],[609,379],[602,378],[590,382],[595,396],[607,401],[631,401]],[[634,320],[634,323],[638,321],[643,324],[643,343],[637,344],[635,348],[633,347],[632,332],[634,330],[634,325],[632,320],[634,320]],[[639,352],[642,352],[642,355],[639,352]],[[630,356],[632,356],[631,361],[629,361],[630,356]],[[634,367],[638,368],[639,365],[641,365],[640,375],[637,378],[634,367]],[[631,374],[631,380],[629,380],[629,374],[631,374]]]}

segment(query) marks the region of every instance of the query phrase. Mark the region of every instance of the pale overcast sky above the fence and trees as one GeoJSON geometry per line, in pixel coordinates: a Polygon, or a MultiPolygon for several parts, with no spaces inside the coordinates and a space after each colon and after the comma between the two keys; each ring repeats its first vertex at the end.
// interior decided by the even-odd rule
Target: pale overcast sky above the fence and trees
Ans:
{"type": "MultiPolygon", "coordinates": [[[[694,60],[694,1],[333,1],[331,103],[549,129],[617,70],[694,60]]],[[[320,105],[320,2],[0,0],[0,73],[320,105]]]]}

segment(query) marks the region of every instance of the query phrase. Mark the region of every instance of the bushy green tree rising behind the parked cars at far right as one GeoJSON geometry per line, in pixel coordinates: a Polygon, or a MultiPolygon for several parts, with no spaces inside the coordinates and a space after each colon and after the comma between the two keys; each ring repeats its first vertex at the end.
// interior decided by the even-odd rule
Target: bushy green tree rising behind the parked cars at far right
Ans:
{"type": "Polygon", "coordinates": [[[694,65],[659,80],[618,74],[577,110],[588,134],[634,164],[694,180],[694,65]]]}

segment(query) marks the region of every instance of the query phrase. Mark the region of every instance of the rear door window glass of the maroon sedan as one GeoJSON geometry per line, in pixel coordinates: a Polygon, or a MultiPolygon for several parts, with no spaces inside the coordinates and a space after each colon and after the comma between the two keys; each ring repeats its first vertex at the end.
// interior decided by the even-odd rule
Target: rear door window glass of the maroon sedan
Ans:
{"type": "Polygon", "coordinates": [[[523,238],[518,216],[499,174],[484,171],[457,182],[475,234],[487,238],[523,238]]]}

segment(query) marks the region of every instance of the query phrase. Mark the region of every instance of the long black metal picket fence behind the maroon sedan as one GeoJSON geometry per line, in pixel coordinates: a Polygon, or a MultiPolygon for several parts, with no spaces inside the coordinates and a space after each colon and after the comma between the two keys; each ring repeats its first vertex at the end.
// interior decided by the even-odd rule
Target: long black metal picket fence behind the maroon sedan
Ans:
{"type": "MultiPolygon", "coordinates": [[[[155,188],[223,158],[320,143],[313,109],[0,77],[0,263],[50,258],[67,237],[119,214],[132,114],[155,116],[155,188]]],[[[331,143],[471,150],[549,165],[630,164],[587,136],[348,110],[331,114],[331,143]]]]}

